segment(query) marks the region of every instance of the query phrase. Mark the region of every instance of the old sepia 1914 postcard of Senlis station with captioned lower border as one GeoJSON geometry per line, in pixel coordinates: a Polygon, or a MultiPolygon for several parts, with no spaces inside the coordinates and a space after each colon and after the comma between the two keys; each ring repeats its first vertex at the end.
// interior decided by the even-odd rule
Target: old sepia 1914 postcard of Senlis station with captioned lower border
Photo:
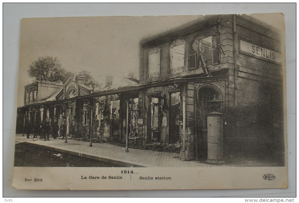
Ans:
{"type": "Polygon", "coordinates": [[[287,188],[282,13],[22,19],[13,188],[287,188]]]}

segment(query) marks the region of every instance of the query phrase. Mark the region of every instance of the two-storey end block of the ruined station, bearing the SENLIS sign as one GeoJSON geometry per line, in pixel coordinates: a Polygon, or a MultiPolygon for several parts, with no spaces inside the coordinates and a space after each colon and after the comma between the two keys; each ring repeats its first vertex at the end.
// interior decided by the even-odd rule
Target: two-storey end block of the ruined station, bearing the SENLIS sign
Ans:
{"type": "Polygon", "coordinates": [[[143,144],[181,140],[182,160],[205,159],[207,114],[219,112],[224,152],[257,148],[259,153],[267,142],[282,148],[280,46],[274,28],[246,15],[205,16],[142,40],[140,84],[146,88],[139,91],[138,132],[143,144]],[[208,102],[213,99],[219,101],[216,109],[208,102]],[[275,125],[280,132],[273,135],[275,125]]]}

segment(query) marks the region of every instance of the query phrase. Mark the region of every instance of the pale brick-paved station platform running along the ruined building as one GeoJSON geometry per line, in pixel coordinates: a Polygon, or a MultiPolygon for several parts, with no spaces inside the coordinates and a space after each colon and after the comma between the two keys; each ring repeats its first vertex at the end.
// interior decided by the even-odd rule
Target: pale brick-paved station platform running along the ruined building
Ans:
{"type": "MultiPolygon", "coordinates": [[[[100,161],[120,164],[126,167],[217,167],[216,165],[197,161],[181,161],[177,158],[179,157],[179,153],[132,148],[129,148],[129,152],[125,152],[124,147],[108,143],[93,143],[92,147],[89,147],[89,142],[76,141],[73,139],[68,139],[68,143],[64,143],[62,139],[53,138],[50,138],[50,141],[33,141],[32,139],[27,139],[26,135],[22,137],[22,134],[16,134],[16,144],[21,142],[38,144],[44,147],[54,148],[60,152],[68,152],[100,161]]],[[[225,165],[219,166],[223,167],[225,165]]]]}

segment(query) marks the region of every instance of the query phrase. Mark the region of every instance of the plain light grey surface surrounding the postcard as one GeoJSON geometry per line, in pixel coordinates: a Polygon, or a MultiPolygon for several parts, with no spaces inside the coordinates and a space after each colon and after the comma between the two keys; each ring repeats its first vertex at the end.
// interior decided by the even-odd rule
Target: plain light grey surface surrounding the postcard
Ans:
{"type": "MultiPolygon", "coordinates": [[[[296,196],[296,4],[3,4],[3,197],[295,197],[296,196]],[[286,74],[289,188],[260,190],[152,190],[152,191],[37,191],[14,190],[13,155],[16,125],[19,39],[22,18],[71,16],[205,15],[284,13],[286,22],[286,74]]],[[[21,80],[21,79],[20,79],[21,80]]],[[[246,174],[244,174],[246,175],[246,174]]]]}

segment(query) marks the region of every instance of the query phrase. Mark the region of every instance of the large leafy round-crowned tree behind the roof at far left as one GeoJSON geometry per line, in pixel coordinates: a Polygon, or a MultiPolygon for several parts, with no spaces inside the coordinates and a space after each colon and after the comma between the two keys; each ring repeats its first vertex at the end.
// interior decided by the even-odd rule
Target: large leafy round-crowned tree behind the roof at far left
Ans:
{"type": "Polygon", "coordinates": [[[60,82],[66,75],[57,58],[50,56],[39,57],[36,61],[32,62],[28,73],[30,77],[35,77],[35,80],[48,82],[60,82]]]}

